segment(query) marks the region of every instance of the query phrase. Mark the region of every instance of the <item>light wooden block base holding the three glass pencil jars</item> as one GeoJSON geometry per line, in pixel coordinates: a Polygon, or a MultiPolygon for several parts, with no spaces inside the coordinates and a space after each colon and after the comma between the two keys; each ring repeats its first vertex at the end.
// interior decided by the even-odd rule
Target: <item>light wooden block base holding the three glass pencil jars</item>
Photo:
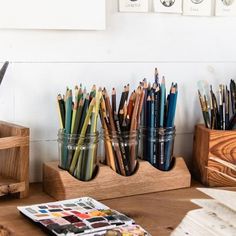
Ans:
{"type": "Polygon", "coordinates": [[[146,161],[139,161],[132,176],[121,176],[110,167],[100,165],[91,181],[80,181],[58,168],[58,162],[43,166],[43,189],[57,200],[90,196],[97,200],[132,196],[171,189],[187,188],[191,176],[183,158],[176,158],[170,171],[160,171],[146,161]]]}

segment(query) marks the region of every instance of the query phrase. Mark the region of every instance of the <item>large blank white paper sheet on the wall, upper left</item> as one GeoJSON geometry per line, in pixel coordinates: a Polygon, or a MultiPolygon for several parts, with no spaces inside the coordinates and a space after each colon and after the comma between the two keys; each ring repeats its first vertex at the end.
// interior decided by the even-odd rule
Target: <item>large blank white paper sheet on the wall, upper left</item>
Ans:
{"type": "Polygon", "coordinates": [[[105,29],[105,0],[0,0],[0,28],[105,29]]]}

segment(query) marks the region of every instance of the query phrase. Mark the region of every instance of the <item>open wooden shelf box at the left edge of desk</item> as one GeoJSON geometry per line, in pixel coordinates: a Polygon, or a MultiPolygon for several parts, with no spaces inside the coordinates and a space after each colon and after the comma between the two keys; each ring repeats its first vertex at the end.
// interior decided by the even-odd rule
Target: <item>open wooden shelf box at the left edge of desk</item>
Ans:
{"type": "Polygon", "coordinates": [[[29,192],[29,129],[0,122],[0,196],[29,192]]]}

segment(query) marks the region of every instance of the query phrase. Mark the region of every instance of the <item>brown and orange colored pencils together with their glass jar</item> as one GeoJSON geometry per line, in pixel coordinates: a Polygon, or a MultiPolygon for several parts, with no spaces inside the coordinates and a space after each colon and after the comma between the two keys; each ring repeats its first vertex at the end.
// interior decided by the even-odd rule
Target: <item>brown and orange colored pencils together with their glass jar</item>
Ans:
{"type": "Polygon", "coordinates": [[[104,132],[106,164],[121,175],[131,175],[136,167],[138,128],[144,99],[143,87],[139,86],[129,97],[129,85],[125,86],[118,110],[116,90],[112,90],[111,102],[105,88],[102,94],[100,117],[104,132]]]}

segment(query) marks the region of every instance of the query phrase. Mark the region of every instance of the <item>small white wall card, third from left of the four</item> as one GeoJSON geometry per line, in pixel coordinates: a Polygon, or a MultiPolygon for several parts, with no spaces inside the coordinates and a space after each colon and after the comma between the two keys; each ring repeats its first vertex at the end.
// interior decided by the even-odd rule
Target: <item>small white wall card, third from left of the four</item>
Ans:
{"type": "Polygon", "coordinates": [[[211,16],[212,0],[183,0],[183,14],[190,16],[211,16]]]}

